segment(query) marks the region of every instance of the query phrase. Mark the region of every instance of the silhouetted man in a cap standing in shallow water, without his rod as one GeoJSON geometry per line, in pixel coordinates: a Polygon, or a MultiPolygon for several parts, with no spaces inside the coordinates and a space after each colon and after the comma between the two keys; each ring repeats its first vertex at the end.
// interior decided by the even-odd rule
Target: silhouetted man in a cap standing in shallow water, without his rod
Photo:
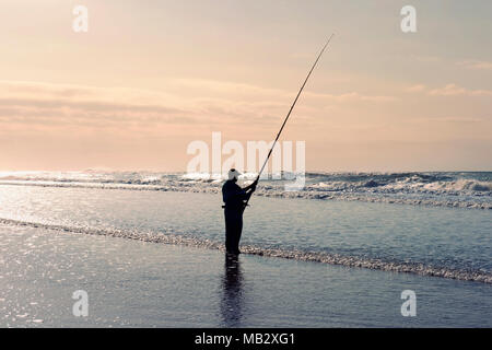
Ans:
{"type": "Polygon", "coordinates": [[[251,197],[258,184],[255,180],[251,185],[241,188],[236,182],[239,172],[235,168],[229,171],[229,180],[222,186],[222,199],[224,200],[225,217],[225,250],[231,254],[241,254],[239,240],[243,231],[243,212],[245,202],[251,197]]]}

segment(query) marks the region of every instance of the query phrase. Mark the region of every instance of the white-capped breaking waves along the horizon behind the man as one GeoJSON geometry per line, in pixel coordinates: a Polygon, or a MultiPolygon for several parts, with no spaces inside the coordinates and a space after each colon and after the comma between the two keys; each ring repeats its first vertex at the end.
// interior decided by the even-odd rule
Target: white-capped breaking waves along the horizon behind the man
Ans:
{"type": "MultiPolygon", "coordinates": [[[[250,176],[249,176],[250,175],[250,176]]],[[[245,177],[248,183],[255,177],[245,177]]],[[[492,172],[306,173],[305,186],[285,190],[292,180],[265,179],[257,195],[278,198],[358,200],[414,206],[492,209],[492,172]]],[[[216,194],[222,179],[203,174],[149,172],[12,172],[0,185],[78,187],[216,194]]]]}

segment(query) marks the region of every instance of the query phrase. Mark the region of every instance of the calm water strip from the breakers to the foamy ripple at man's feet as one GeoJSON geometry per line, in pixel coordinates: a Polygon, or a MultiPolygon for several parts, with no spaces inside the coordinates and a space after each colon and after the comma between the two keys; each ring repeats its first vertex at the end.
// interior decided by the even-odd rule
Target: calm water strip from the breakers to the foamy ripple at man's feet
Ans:
{"type": "MultiPolygon", "coordinates": [[[[3,223],[212,248],[223,242],[218,195],[0,190],[3,223]]],[[[492,283],[491,219],[488,210],[255,197],[245,213],[242,244],[244,252],[259,255],[492,283]]]]}

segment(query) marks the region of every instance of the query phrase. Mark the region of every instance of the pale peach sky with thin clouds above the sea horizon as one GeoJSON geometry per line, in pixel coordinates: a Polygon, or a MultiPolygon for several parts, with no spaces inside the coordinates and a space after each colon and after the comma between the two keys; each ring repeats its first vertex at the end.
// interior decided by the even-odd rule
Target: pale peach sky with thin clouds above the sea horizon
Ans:
{"type": "Polygon", "coordinates": [[[492,1],[2,0],[0,170],[185,171],[282,136],[312,171],[492,171],[492,1]],[[75,33],[72,10],[89,9],[75,33]],[[400,10],[417,9],[417,33],[400,10]]]}

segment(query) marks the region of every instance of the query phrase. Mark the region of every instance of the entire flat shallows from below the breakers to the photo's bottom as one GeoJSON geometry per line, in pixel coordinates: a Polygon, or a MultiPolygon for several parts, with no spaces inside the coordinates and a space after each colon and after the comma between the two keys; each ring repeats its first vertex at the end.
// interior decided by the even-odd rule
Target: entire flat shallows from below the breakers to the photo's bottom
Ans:
{"type": "Polygon", "coordinates": [[[216,194],[1,185],[0,326],[492,326],[491,211],[250,203],[226,265],[216,194]]]}

